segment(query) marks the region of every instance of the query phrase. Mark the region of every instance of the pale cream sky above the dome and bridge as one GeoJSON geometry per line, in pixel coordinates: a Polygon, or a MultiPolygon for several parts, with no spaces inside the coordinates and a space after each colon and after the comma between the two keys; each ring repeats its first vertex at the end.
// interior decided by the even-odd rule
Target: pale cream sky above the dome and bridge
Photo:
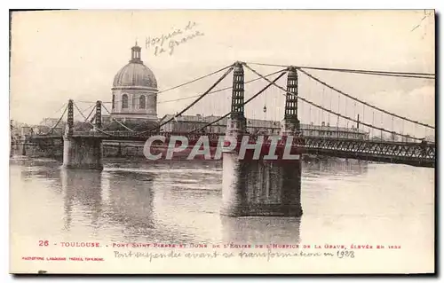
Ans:
{"type": "MultiPolygon", "coordinates": [[[[38,123],[58,118],[69,98],[111,101],[115,74],[128,63],[131,46],[142,47],[142,60],[153,70],[159,90],[207,75],[236,60],[278,65],[337,67],[434,73],[434,18],[418,11],[64,11],[14,12],[10,101],[11,119],[38,123]],[[186,30],[189,23],[195,23],[186,30]],[[147,38],[198,35],[155,53],[147,38]]],[[[158,51],[160,43],[157,43],[158,51]]],[[[279,67],[249,65],[266,75],[279,67]]],[[[434,125],[434,80],[347,75],[309,71],[321,80],[387,111],[434,125]]],[[[245,70],[246,80],[256,78],[245,70]]],[[[174,114],[193,99],[164,102],[201,94],[217,79],[210,76],[178,90],[159,94],[158,116],[174,114]]],[[[231,84],[231,75],[221,86],[231,84]]],[[[285,77],[279,83],[285,87],[285,77]]],[[[266,83],[246,85],[246,98],[266,83]]],[[[246,107],[256,119],[280,120],[284,96],[267,90],[246,107]],[[266,106],[266,112],[263,111],[266,106]]],[[[343,114],[360,114],[366,122],[416,132],[389,116],[362,110],[333,91],[299,75],[299,95],[343,114]],[[379,120],[378,120],[379,119],[379,120]]],[[[189,114],[226,114],[230,90],[210,95],[189,114]],[[216,96],[218,96],[216,98],[216,96]]],[[[82,109],[89,106],[78,102],[82,109]]],[[[336,117],[300,103],[302,122],[334,122],[336,117]]],[[[336,123],[336,122],[334,122],[336,123]]],[[[339,122],[345,125],[345,121],[339,122]]],[[[424,129],[424,128],[421,128],[424,129]]],[[[425,131],[424,131],[425,133],[425,131]]]]}

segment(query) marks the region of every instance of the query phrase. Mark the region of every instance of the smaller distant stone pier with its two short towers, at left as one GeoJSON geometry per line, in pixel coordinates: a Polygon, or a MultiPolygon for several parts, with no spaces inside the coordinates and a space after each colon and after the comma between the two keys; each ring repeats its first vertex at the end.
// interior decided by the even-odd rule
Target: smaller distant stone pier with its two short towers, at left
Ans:
{"type": "MultiPolygon", "coordinates": [[[[74,135],[73,100],[68,102],[67,129],[63,135],[63,167],[66,169],[103,169],[102,139],[74,135]]],[[[101,127],[101,102],[96,103],[96,127],[101,127]]]]}

